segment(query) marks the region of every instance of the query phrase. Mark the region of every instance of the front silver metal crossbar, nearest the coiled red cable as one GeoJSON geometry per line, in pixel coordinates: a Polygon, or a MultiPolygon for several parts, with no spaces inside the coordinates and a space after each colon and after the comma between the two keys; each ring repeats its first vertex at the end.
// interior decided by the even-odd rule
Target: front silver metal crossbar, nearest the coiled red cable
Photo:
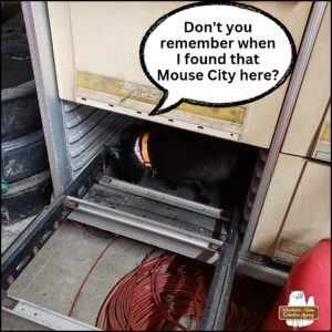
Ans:
{"type": "Polygon", "coordinates": [[[214,263],[222,241],[68,196],[69,219],[214,263]],[[205,255],[203,255],[205,252],[205,255]],[[205,259],[203,258],[205,257],[205,259]]]}

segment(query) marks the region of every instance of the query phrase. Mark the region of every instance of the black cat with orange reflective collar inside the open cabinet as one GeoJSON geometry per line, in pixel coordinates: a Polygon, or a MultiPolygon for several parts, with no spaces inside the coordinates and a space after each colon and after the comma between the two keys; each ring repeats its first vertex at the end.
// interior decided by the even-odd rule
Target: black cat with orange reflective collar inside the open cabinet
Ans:
{"type": "Polygon", "coordinates": [[[173,188],[189,185],[195,199],[205,204],[222,184],[241,183],[257,153],[243,144],[155,124],[128,128],[111,151],[121,178],[138,183],[151,174],[173,188]]]}

